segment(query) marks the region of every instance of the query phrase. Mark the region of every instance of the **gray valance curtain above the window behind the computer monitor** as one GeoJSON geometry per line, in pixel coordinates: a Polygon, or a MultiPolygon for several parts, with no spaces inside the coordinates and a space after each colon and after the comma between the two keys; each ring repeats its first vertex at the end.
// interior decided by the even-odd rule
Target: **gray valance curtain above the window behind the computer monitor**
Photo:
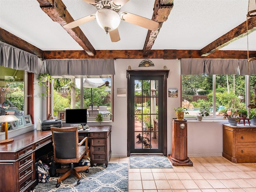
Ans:
{"type": "Polygon", "coordinates": [[[46,72],[62,75],[114,75],[114,59],[46,60],[46,72]]]}

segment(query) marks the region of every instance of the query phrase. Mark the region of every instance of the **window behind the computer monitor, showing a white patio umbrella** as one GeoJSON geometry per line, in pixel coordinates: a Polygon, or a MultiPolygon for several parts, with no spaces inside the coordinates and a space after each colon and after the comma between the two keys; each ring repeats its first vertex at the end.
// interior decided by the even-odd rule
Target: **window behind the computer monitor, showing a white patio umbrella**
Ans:
{"type": "Polygon", "coordinates": [[[112,115],[112,76],[53,77],[53,115],[66,108],[79,109],[90,106],[98,110],[105,106],[106,114],[112,115]],[[109,82],[108,86],[106,86],[109,82]]]}

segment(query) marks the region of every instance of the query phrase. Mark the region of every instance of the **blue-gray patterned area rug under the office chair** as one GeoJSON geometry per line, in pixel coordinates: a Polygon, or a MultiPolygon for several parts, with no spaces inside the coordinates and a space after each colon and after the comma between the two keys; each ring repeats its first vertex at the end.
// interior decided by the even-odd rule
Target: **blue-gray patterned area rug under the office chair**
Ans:
{"type": "Polygon", "coordinates": [[[80,172],[81,183],[77,178],[68,176],[56,188],[58,177],[52,177],[48,183],[38,183],[35,192],[128,192],[128,164],[109,163],[89,168],[89,172],[80,172]]]}

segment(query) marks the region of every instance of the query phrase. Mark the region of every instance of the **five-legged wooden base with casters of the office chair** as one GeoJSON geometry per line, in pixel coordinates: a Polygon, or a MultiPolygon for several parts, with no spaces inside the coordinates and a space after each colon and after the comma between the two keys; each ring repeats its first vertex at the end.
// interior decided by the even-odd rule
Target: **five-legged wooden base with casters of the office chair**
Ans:
{"type": "Polygon", "coordinates": [[[66,179],[71,174],[76,176],[76,178],[78,179],[76,183],[79,185],[81,183],[81,175],[78,172],[81,172],[81,171],[85,171],[86,173],[88,173],[89,166],[85,165],[85,166],[74,167],[74,164],[71,163],[70,168],[56,169],[56,173],[64,173],[63,175],[60,176],[60,178],[57,179],[56,188],[60,186],[60,182],[62,180],[66,179]]]}

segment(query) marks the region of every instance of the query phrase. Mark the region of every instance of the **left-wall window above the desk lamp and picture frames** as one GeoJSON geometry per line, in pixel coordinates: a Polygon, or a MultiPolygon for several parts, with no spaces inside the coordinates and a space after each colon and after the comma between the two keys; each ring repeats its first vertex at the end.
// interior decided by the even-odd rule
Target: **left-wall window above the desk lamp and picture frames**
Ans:
{"type": "Polygon", "coordinates": [[[0,115],[24,115],[24,71],[0,66],[0,115]]]}

